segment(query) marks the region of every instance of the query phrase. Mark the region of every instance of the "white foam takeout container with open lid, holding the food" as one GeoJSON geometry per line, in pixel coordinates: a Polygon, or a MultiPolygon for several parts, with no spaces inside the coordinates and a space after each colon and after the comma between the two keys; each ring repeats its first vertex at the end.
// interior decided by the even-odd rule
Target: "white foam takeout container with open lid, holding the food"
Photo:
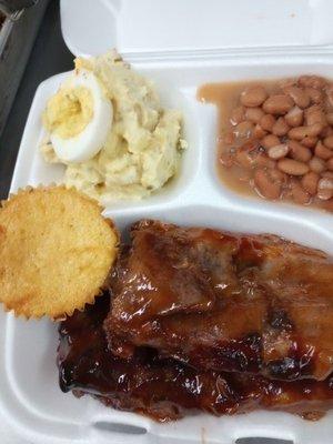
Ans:
{"type": "MultiPolygon", "coordinates": [[[[189,149],[182,171],[161,193],[107,208],[124,229],[141,218],[181,225],[270,232],[333,254],[333,215],[306,208],[241,196],[215,170],[216,110],[196,101],[205,82],[315,73],[333,77],[330,0],[62,0],[65,42],[74,54],[117,47],[152,79],[163,103],[185,117],[189,149]]],[[[37,90],[22,138],[11,191],[61,180],[59,165],[39,153],[41,112],[67,73],[37,90]]],[[[12,426],[33,443],[220,443],[249,436],[332,444],[333,412],[317,422],[258,411],[214,417],[195,414],[171,424],[77,400],[58,386],[57,325],[1,313],[0,405],[12,426]]],[[[332,325],[333,329],[333,325],[332,325]]]]}

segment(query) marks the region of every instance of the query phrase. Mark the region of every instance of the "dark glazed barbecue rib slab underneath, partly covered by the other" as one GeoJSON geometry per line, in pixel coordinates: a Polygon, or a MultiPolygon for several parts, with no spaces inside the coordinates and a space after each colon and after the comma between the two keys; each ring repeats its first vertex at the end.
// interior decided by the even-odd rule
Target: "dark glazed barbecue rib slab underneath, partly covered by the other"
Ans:
{"type": "Polygon", "coordinates": [[[130,361],[108,349],[102,327],[110,297],[75,312],[60,325],[60,386],[78,396],[91,394],[119,410],[158,421],[176,420],[189,410],[214,415],[282,410],[316,420],[333,407],[333,377],[285,382],[240,373],[196,371],[151,349],[138,349],[130,361]]]}

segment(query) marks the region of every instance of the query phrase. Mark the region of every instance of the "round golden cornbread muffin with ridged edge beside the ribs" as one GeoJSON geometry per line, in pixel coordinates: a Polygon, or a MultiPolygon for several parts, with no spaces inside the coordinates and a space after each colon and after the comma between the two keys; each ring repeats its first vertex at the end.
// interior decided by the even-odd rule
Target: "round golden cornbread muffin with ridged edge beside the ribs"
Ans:
{"type": "Polygon", "coordinates": [[[64,186],[26,189],[0,209],[0,302],[53,320],[93,303],[119,235],[92,199],[64,186]]]}

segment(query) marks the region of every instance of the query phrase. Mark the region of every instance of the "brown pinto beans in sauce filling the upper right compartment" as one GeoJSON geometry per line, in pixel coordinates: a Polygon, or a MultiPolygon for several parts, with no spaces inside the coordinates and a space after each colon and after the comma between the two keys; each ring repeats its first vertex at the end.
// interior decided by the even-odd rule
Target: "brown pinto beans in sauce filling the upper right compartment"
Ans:
{"type": "Polygon", "coordinates": [[[211,83],[218,171],[232,190],[333,211],[333,82],[317,75],[211,83]]]}

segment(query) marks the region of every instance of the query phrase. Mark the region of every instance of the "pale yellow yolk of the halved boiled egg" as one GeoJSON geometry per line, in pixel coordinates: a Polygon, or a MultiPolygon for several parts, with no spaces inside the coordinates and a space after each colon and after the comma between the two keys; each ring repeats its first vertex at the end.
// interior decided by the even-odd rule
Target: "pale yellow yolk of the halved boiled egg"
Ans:
{"type": "Polygon", "coordinates": [[[48,131],[70,139],[84,130],[93,117],[93,98],[88,88],[62,88],[48,102],[43,123],[48,131]]]}

